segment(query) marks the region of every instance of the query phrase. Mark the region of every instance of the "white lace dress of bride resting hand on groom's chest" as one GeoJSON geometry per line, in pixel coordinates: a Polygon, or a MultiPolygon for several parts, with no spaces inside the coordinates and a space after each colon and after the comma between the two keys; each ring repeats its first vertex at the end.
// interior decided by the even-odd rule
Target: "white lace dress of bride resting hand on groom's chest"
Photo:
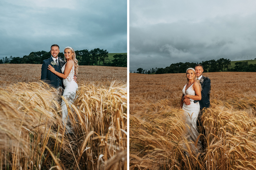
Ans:
{"type": "MultiPolygon", "coordinates": [[[[67,63],[65,63],[64,66],[61,68],[61,72],[63,72],[63,73],[64,73],[64,70],[65,70],[66,64],[67,63]]],[[[74,75],[75,75],[75,66],[73,64],[72,69],[71,69],[70,73],[68,74],[68,77],[66,79],[63,79],[63,84],[65,86],[63,96],[65,97],[65,99],[67,99],[69,107],[71,107],[71,104],[74,102],[75,96],[76,96],[76,90],[78,89],[78,85],[75,82],[75,80],[73,79],[74,75]]],[[[67,119],[68,109],[67,109],[66,104],[67,103],[65,103],[64,100],[62,100],[62,102],[61,102],[62,121],[63,121],[64,125],[67,121],[66,132],[71,133],[72,128],[71,128],[71,123],[70,123],[69,119],[67,119]]]]}

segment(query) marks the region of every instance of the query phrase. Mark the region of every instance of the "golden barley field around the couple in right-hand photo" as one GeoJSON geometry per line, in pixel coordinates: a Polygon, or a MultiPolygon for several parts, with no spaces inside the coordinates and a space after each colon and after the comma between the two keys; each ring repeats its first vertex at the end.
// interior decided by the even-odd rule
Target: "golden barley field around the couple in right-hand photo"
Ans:
{"type": "Polygon", "coordinates": [[[211,107],[197,126],[205,145],[199,153],[184,137],[180,100],[186,75],[129,75],[131,170],[256,169],[256,73],[203,74],[211,79],[211,107]]]}

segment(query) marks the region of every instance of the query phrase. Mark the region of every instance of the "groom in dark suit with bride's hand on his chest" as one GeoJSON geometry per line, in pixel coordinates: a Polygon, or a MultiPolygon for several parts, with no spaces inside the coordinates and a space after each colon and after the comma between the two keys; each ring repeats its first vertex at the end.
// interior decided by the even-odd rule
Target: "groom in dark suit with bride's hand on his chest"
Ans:
{"type": "MultiPolygon", "coordinates": [[[[41,68],[41,80],[46,80],[47,83],[52,85],[54,88],[64,88],[62,78],[52,73],[48,70],[48,65],[52,65],[57,72],[61,73],[61,68],[65,64],[65,62],[58,57],[60,52],[60,47],[57,44],[53,44],[51,46],[51,57],[43,61],[41,68]]],[[[76,75],[74,75],[74,80],[76,82],[76,75]]]]}

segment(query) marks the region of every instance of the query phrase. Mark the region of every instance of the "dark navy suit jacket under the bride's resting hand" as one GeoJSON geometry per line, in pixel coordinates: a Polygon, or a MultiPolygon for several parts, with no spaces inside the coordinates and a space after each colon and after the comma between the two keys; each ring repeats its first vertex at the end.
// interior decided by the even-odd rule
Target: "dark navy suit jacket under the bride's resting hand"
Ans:
{"type": "Polygon", "coordinates": [[[47,83],[49,83],[55,88],[59,86],[64,88],[64,85],[62,82],[63,79],[55,75],[53,72],[51,72],[47,68],[48,68],[48,65],[50,64],[52,67],[54,67],[55,71],[61,73],[61,68],[65,64],[65,62],[61,58],[59,58],[59,67],[57,65],[52,65],[51,62],[54,62],[52,57],[43,61],[42,68],[41,68],[41,80],[45,80],[47,83]]]}

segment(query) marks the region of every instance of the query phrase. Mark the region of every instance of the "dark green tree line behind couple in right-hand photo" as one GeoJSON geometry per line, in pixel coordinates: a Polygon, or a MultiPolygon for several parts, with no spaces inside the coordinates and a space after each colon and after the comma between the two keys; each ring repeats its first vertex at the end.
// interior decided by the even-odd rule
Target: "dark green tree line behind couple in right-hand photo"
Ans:
{"type": "MultiPolygon", "coordinates": [[[[256,58],[255,58],[256,60],[256,58]]],[[[169,67],[165,68],[155,68],[155,74],[167,74],[167,73],[185,73],[187,68],[195,68],[196,64],[202,64],[204,67],[204,72],[223,72],[223,71],[237,71],[237,72],[256,72],[256,64],[248,64],[246,62],[236,62],[235,67],[231,67],[230,59],[218,59],[218,60],[208,60],[202,61],[200,63],[173,63],[169,67]]],[[[138,68],[137,72],[140,74],[152,74],[154,73],[152,69],[150,70],[143,70],[143,68],[138,68]]]]}

